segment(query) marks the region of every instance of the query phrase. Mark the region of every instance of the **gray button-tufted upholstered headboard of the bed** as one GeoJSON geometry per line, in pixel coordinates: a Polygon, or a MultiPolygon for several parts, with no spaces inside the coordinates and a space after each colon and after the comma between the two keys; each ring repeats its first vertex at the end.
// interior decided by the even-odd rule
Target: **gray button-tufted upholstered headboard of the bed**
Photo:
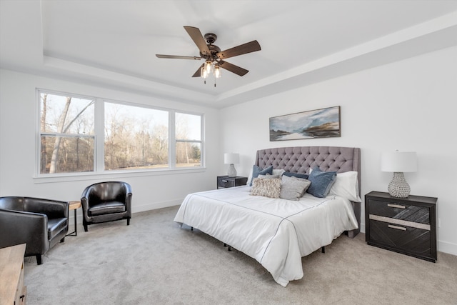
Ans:
{"type": "MultiPolygon", "coordinates": [[[[293,173],[309,174],[309,169],[316,166],[322,171],[358,172],[358,192],[361,189],[361,161],[360,149],[356,147],[339,146],[296,146],[260,149],[256,155],[256,165],[266,168],[273,165],[273,169],[284,169],[293,173]]],[[[360,231],[361,203],[352,202],[358,221],[358,229],[349,231],[348,236],[353,238],[360,231]]]]}

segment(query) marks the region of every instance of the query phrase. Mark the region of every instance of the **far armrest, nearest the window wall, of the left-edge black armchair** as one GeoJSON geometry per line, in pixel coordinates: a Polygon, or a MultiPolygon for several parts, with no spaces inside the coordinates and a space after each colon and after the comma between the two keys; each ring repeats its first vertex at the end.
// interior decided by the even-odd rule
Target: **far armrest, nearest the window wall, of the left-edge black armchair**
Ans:
{"type": "Polygon", "coordinates": [[[26,197],[24,210],[46,214],[49,219],[68,218],[69,202],[26,197]]]}

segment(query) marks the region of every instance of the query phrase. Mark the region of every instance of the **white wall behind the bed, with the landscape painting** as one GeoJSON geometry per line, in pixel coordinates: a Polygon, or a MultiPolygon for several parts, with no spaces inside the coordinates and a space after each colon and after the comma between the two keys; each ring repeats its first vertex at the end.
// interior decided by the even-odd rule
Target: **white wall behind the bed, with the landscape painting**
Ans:
{"type": "Polygon", "coordinates": [[[416,151],[418,171],[405,174],[411,194],[438,197],[438,251],[457,255],[456,84],[453,47],[248,101],[221,110],[221,149],[241,154],[236,169],[247,176],[257,149],[357,146],[362,196],[387,191],[392,174],[380,171],[381,152],[416,151]],[[338,105],[340,138],[269,141],[271,116],[338,105]]]}

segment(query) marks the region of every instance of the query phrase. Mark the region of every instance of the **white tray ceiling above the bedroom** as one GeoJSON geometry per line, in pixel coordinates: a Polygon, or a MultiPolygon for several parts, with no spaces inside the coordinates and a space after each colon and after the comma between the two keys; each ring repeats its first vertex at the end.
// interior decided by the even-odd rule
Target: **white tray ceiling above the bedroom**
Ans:
{"type": "Polygon", "coordinates": [[[221,108],[457,45],[457,1],[0,0],[0,67],[221,108]],[[192,78],[201,61],[183,26],[222,50],[261,51],[192,78]]]}

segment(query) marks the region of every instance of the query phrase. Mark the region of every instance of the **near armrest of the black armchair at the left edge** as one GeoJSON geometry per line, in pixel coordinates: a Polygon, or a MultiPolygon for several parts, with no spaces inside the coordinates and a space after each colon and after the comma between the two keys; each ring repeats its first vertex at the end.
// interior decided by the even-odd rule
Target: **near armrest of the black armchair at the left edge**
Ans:
{"type": "Polygon", "coordinates": [[[26,211],[0,209],[0,248],[26,244],[26,256],[49,249],[48,217],[26,211]]]}

